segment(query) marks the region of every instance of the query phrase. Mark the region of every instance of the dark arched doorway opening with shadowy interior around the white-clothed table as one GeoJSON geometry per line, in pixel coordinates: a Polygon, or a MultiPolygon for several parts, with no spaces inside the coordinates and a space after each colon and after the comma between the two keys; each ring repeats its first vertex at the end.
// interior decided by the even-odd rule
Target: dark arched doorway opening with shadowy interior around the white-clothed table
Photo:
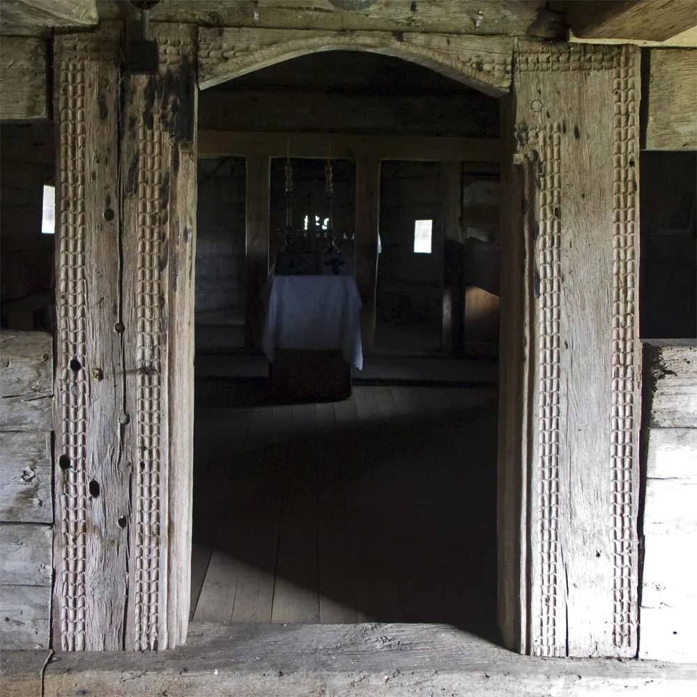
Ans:
{"type": "MultiPolygon", "coordinates": [[[[498,142],[498,102],[400,59],[337,51],[206,90],[199,112],[199,129],[246,133],[240,142],[256,149],[199,160],[190,619],[443,622],[496,640],[498,364],[467,357],[466,230],[474,226],[463,192],[466,173],[497,177],[498,160],[444,162],[442,151],[413,158],[410,148],[439,137],[498,142]],[[256,292],[250,234],[266,236],[263,265],[273,267],[287,143],[296,194],[309,192],[294,199],[293,224],[325,224],[311,192],[324,178],[325,141],[317,153],[312,137],[327,135],[335,182],[346,189],[335,227],[353,224],[356,247],[374,234],[374,291],[362,303],[374,307],[375,344],[364,333],[364,365],[353,369],[348,399],[280,400],[248,328],[229,346],[206,346],[201,312],[220,294],[249,302],[256,292]],[[389,139],[393,148],[374,154],[382,160],[374,230],[359,229],[356,217],[365,196],[356,181],[367,158],[361,139],[370,147],[389,139]],[[271,143],[268,157],[262,143],[271,143]],[[250,158],[256,171],[260,159],[268,163],[261,185],[250,158]],[[206,189],[206,177],[220,182],[206,189]],[[256,220],[266,229],[250,231],[250,199],[259,195],[268,206],[264,218],[255,204],[256,220]],[[210,227],[206,216],[219,205],[235,210],[222,213],[229,224],[210,227]],[[430,254],[415,252],[416,221],[431,222],[430,254]],[[201,273],[213,266],[223,277],[201,273]],[[397,336],[404,327],[408,340],[397,336]]],[[[362,253],[355,250],[357,275],[362,253]]],[[[245,312],[238,316],[243,322],[245,312]]]]}

